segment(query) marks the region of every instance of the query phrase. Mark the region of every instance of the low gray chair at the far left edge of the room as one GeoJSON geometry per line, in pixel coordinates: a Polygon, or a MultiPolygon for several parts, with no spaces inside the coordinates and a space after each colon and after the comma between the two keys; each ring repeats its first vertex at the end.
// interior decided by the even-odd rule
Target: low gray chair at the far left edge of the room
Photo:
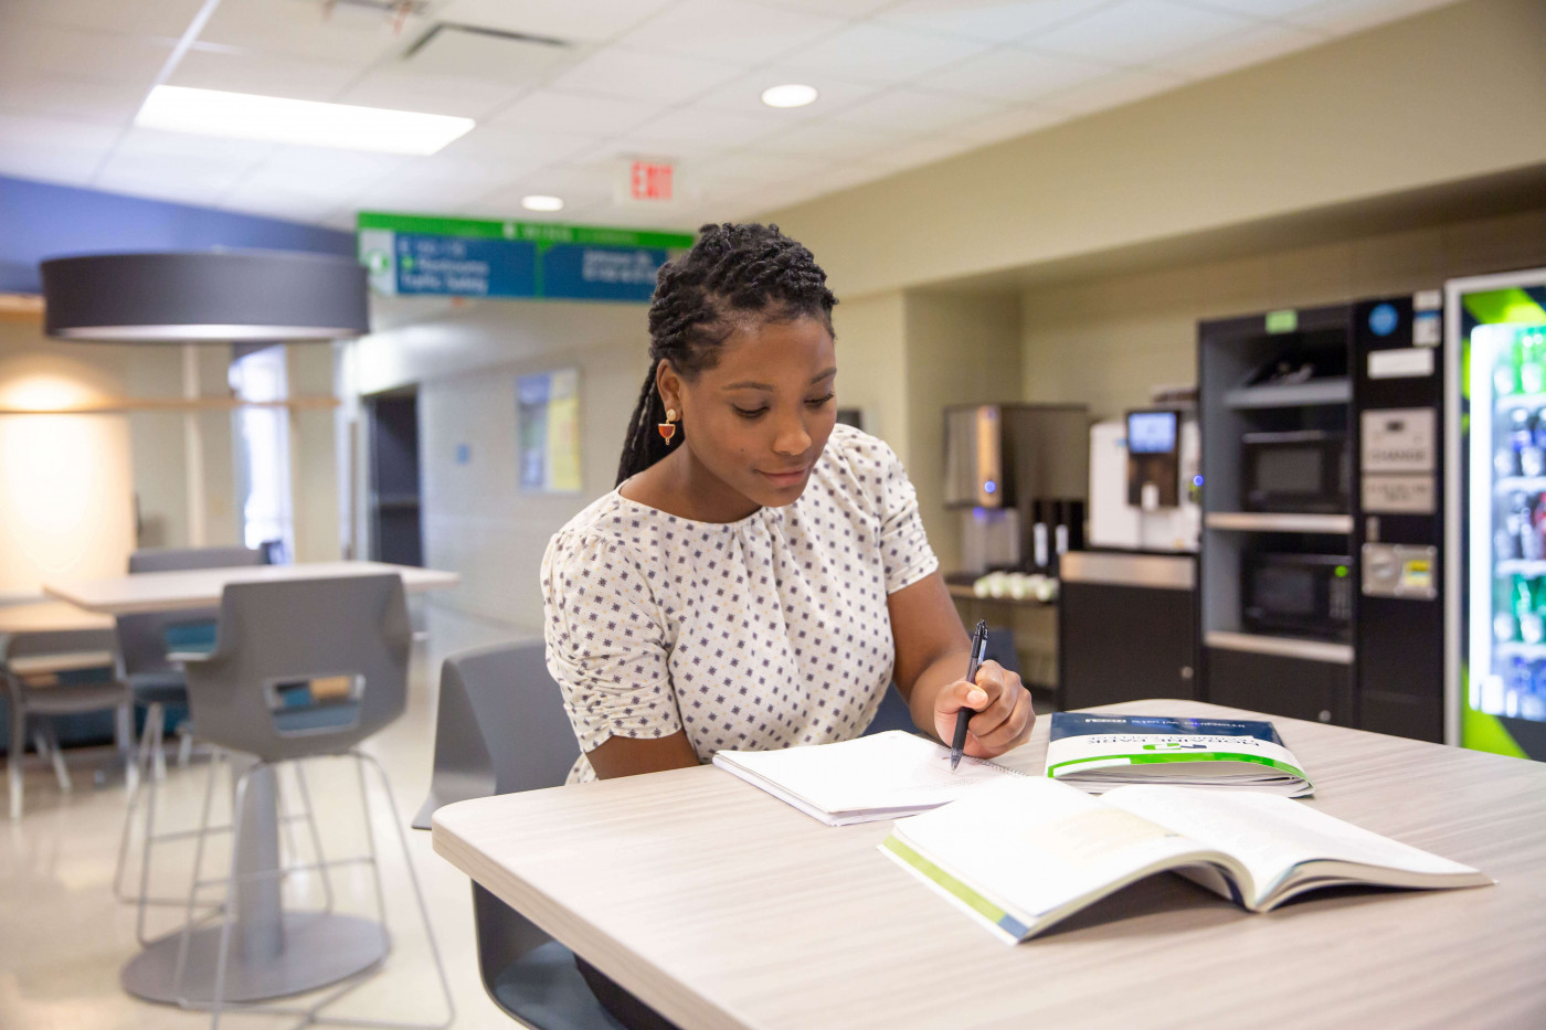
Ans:
{"type": "Polygon", "coordinates": [[[70,770],[54,733],[51,716],[116,710],[117,747],[130,790],[138,770],[130,745],[131,694],[116,668],[116,640],[111,629],[51,629],[0,634],[0,676],[11,697],[11,742],[6,779],[11,789],[11,818],[22,818],[22,752],[26,747],[28,719],[37,716],[34,744],[40,756],[53,761],[59,789],[70,793],[70,770]]]}

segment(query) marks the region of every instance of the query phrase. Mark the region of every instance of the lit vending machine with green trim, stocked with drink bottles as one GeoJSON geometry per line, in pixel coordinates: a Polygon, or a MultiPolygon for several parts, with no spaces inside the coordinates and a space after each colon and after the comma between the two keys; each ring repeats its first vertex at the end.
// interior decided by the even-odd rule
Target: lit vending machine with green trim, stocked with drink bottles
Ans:
{"type": "Polygon", "coordinates": [[[1546,759],[1546,269],[1446,291],[1446,739],[1546,759]]]}

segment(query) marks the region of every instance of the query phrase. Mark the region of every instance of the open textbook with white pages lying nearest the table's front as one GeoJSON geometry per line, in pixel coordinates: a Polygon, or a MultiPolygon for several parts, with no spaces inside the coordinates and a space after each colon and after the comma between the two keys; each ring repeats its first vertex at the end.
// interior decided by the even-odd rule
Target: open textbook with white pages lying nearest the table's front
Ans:
{"type": "Polygon", "coordinates": [[[1093,798],[1040,778],[900,820],[880,849],[1008,943],[1163,871],[1254,912],[1325,886],[1492,883],[1277,795],[1132,786],[1093,798]]]}

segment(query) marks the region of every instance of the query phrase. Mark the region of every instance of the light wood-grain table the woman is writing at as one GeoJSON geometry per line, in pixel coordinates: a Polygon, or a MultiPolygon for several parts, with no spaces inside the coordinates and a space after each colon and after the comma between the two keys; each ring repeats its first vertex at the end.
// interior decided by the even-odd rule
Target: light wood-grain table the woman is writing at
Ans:
{"type": "MultiPolygon", "coordinates": [[[[1546,766],[1274,722],[1305,804],[1497,886],[1249,914],[1161,875],[1006,946],[875,851],[889,823],[829,827],[713,767],[462,801],[434,849],[688,1030],[1546,1025],[1546,766]]],[[[1005,761],[1040,773],[1045,747],[1042,719],[1005,761]]]]}

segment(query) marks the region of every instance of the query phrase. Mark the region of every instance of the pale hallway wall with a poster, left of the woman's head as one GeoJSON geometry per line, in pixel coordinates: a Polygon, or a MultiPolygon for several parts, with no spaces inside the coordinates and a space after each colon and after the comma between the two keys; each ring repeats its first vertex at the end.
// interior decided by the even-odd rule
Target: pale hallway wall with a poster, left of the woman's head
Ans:
{"type": "Polygon", "coordinates": [[[373,322],[386,328],[351,345],[346,377],[359,393],[417,384],[425,563],[462,577],[434,603],[540,633],[538,569],[547,540],[611,490],[617,475],[623,430],[649,365],[646,308],[373,303],[373,322]],[[580,370],[584,490],[521,493],[515,380],[561,368],[580,370]],[[468,448],[465,464],[456,461],[459,445],[468,448]]]}

